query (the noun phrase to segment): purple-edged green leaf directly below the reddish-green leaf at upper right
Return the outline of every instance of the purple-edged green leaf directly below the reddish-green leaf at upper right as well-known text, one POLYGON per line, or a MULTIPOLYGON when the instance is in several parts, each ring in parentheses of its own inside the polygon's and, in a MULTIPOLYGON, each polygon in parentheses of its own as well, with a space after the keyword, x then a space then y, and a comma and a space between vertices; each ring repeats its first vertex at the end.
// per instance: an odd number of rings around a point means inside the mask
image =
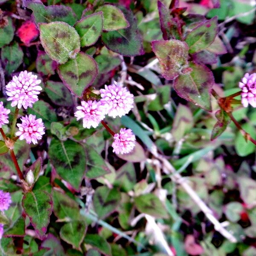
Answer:
POLYGON ((205 66, 189 63, 190 74, 180 75, 174 81, 177 94, 200 108, 212 110, 210 91, 214 84, 212 72, 205 66))

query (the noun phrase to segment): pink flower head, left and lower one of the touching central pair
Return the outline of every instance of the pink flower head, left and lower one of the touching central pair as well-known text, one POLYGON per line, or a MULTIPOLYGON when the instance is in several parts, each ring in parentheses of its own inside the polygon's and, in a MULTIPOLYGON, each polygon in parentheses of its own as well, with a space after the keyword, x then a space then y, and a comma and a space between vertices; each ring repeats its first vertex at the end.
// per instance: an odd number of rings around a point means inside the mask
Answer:
POLYGON ((75 112, 76 120, 83 119, 83 127, 96 128, 100 121, 105 118, 105 107, 98 101, 88 100, 81 101, 81 106, 76 107, 78 111, 75 112))

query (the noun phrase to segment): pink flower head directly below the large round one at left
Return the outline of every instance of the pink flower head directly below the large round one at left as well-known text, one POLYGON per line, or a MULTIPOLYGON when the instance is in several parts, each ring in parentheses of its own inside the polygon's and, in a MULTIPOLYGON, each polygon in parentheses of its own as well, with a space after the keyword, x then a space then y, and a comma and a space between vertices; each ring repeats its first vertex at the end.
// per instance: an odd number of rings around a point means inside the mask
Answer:
POLYGON ((19 131, 16 132, 16 136, 20 136, 20 140, 26 140, 26 143, 37 143, 37 140, 41 140, 44 132, 44 123, 42 119, 35 119, 34 115, 22 116, 20 118, 21 124, 17 124, 19 131))

